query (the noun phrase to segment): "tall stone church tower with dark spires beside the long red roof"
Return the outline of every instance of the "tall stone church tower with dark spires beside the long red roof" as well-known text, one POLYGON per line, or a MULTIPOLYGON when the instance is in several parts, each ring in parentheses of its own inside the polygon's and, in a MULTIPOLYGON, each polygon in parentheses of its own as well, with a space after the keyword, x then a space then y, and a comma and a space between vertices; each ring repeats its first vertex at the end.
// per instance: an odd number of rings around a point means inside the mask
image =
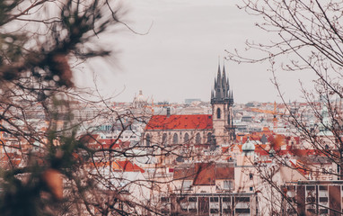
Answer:
POLYGON ((233 91, 230 89, 229 78, 218 64, 215 86, 211 92, 213 135, 217 145, 231 143, 235 139, 233 127, 233 91))

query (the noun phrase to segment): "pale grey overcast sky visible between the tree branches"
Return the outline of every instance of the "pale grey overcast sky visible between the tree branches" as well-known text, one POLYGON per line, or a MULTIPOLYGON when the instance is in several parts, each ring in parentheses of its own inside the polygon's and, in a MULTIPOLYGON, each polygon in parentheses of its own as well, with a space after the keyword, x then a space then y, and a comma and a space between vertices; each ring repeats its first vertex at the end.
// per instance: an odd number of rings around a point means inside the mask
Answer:
MULTIPOLYGON (((131 102, 139 90, 154 102, 182 103, 186 98, 210 100, 218 56, 224 49, 244 49, 245 40, 266 40, 272 35, 255 27, 256 17, 235 4, 239 0, 129 0, 124 21, 138 35, 120 28, 101 38, 117 52, 116 66, 92 64, 102 94, 131 102), (151 29, 149 30, 151 26, 151 29)), ((269 39, 268 39, 269 40, 269 39)), ((267 64, 225 61, 236 103, 279 101, 267 64)), ((286 98, 300 100, 298 78, 307 74, 278 74, 286 98)), ((80 85, 89 83, 76 76, 80 85)))

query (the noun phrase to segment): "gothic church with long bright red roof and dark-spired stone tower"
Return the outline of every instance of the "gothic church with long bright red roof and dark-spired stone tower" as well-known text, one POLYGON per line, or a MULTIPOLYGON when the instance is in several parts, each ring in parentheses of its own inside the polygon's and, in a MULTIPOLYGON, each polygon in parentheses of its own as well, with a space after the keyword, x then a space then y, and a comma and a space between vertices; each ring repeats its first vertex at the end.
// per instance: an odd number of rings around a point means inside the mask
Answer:
POLYGON ((233 126, 233 91, 225 67, 215 78, 211 92, 212 114, 153 115, 145 126, 143 145, 190 145, 214 147, 231 144, 235 139, 233 126))

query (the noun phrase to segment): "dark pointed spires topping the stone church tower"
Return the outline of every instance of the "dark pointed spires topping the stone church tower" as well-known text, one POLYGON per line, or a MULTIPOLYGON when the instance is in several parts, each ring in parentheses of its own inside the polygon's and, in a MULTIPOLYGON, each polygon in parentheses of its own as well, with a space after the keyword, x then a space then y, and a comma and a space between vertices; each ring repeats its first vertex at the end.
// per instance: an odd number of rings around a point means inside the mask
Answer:
POLYGON ((215 78, 215 86, 211 92, 211 103, 213 102, 233 103, 233 91, 230 90, 229 77, 226 77, 224 65, 223 65, 223 72, 221 72, 219 63, 218 63, 218 73, 215 78))

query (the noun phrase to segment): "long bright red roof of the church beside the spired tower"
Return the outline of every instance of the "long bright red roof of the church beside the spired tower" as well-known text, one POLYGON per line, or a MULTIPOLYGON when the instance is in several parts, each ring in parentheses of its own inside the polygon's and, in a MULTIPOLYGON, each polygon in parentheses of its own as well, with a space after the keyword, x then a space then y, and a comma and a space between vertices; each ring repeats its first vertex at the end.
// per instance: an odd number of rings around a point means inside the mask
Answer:
POLYGON ((154 115, 145 130, 213 129, 212 115, 154 115))

